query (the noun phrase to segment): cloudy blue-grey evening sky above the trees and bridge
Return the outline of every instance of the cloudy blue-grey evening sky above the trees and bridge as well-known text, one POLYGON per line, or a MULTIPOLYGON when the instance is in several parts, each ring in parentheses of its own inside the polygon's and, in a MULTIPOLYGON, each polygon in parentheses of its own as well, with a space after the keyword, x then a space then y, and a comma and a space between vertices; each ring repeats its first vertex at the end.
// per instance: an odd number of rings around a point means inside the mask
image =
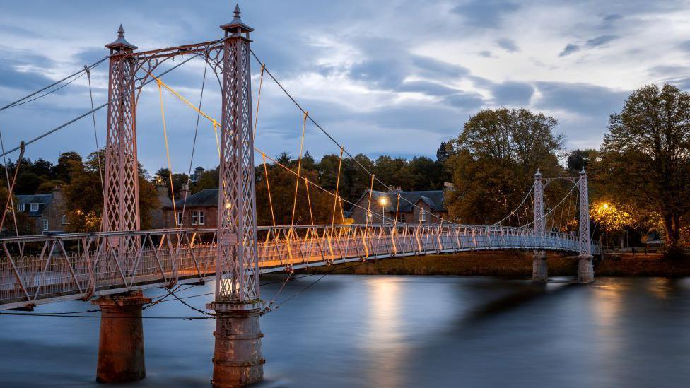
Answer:
MULTIPOLYGON (((92 64, 125 37, 140 50, 216 40, 230 1, 6 1, 0 13, 0 105, 92 64)), ((352 154, 435 158, 482 108, 527 107, 559 121, 566 147, 596 148, 609 114, 632 90, 673 83, 690 90, 688 1, 278 1, 239 2, 255 28, 252 49, 283 86, 352 154)), ((187 59, 182 57, 180 61, 187 59)), ((180 62, 160 66, 160 71, 180 62)), ((260 65, 252 61, 257 100, 260 65)), ((163 78, 197 103, 204 61, 163 78)), ((264 78, 256 145, 267 155, 300 149, 302 117, 264 78)), ((107 65, 92 74, 95 105, 107 101, 107 65)), ((218 81, 207 74, 202 110, 220 117, 218 81)), ((187 172, 197 114, 163 92, 170 163, 187 172)), ((256 109, 256 107, 254 107, 256 109)), ((90 110, 86 78, 0 112, 4 146, 90 110)), ((100 146, 106 112, 95 114, 100 146)), ((139 161, 167 166, 158 88, 137 107, 139 161)), ((313 125, 305 150, 339 148, 313 125)), ((79 120, 28 146, 29 158, 95 150, 93 120, 79 120)), ((16 158, 16 153, 11 158, 16 158)), ((257 161, 260 155, 257 155, 257 161)), ((218 164, 212 126, 199 124, 192 165, 218 164)))

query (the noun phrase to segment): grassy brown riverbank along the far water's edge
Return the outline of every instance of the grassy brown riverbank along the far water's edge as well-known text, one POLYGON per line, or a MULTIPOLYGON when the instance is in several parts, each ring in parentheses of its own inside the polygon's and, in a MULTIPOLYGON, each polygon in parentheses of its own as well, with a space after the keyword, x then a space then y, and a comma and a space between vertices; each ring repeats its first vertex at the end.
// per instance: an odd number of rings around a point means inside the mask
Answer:
MULTIPOLYGON (((549 253, 549 276, 575 276, 578 258, 549 253)), ((532 253, 519 251, 462 252, 381 259, 366 263, 319 266, 310 274, 532 276, 532 253)), ((690 261, 669 261, 660 254, 623 254, 595 260, 595 276, 690 276, 690 261)))

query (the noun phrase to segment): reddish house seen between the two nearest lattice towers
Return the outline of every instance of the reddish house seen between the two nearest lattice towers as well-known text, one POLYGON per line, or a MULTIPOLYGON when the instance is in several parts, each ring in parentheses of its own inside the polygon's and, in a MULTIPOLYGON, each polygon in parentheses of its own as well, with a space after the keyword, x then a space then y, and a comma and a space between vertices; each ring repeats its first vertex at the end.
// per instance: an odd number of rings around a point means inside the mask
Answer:
MULTIPOLYGON (((185 228, 216 228, 218 225, 218 189, 201 190, 187 196, 185 184, 179 193, 175 193, 175 204, 162 206, 163 223, 161 228, 172 229, 176 226, 185 228), (182 213, 184 211, 184 213, 182 213), (175 221, 177 220, 177 223, 175 221)), ((166 194, 167 196, 167 194, 166 194)))

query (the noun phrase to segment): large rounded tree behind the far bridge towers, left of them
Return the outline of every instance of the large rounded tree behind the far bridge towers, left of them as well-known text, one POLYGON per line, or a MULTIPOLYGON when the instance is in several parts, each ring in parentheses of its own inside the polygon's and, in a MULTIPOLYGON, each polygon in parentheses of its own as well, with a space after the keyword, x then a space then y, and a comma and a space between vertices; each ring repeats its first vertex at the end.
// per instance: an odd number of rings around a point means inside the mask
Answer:
POLYGON ((445 165, 455 190, 450 216, 463 223, 492 223, 515 209, 529 192, 534 172, 559 175, 563 135, 556 119, 529 110, 481 110, 452 140, 445 165))

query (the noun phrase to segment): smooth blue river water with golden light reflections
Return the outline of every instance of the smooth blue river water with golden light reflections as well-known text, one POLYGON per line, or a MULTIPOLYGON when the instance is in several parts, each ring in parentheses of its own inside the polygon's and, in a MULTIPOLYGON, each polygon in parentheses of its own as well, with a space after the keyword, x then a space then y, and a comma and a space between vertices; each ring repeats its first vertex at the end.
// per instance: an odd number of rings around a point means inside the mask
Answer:
MULTIPOLYGON (((316 278, 291 281, 279 299, 316 278)), ((280 286, 264 286, 264 298, 280 286)), ((540 287, 495 278, 329 275, 262 317, 262 387, 687 387, 689 297, 690 279, 540 287)), ((187 301, 203 307, 209 299, 187 301)), ((37 312, 89 308, 64 302, 37 312)), ((193 314, 178 302, 145 312, 193 314)), ((133 385, 209 387, 213 330, 211 319, 145 319, 148 375, 133 385)), ((0 316, 0 386, 99 386, 97 344, 98 319, 0 316)))

